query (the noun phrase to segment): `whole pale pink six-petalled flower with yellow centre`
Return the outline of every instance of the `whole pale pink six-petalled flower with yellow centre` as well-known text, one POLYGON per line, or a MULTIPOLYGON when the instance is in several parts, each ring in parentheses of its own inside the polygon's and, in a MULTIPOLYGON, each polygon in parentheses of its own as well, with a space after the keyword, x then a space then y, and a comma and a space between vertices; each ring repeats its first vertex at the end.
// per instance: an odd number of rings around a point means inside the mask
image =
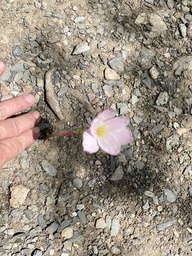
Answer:
POLYGON ((92 120, 90 129, 83 133, 84 151, 95 153, 101 148, 108 154, 117 156, 121 146, 133 141, 132 132, 127 128, 129 119, 115 117, 112 109, 107 109, 92 120))

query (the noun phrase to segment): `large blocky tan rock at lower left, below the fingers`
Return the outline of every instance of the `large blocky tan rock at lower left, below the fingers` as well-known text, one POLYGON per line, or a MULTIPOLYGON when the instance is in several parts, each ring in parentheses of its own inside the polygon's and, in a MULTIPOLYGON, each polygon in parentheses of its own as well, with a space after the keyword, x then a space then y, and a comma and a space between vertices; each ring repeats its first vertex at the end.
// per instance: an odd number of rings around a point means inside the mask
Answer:
POLYGON ((25 203, 26 197, 30 190, 28 188, 25 188, 24 186, 18 185, 18 186, 11 186, 10 191, 11 191, 10 205, 13 208, 18 208, 19 206, 22 206, 25 203))

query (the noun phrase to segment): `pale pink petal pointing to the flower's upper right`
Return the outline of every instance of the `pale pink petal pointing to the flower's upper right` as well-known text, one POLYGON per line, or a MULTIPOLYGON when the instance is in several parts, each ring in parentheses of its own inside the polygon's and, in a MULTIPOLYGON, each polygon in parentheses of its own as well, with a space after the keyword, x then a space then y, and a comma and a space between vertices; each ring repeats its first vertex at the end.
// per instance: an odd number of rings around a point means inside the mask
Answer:
POLYGON ((126 117, 115 117, 105 121, 105 125, 112 133, 122 131, 122 129, 126 128, 127 124, 129 124, 129 119, 126 117))

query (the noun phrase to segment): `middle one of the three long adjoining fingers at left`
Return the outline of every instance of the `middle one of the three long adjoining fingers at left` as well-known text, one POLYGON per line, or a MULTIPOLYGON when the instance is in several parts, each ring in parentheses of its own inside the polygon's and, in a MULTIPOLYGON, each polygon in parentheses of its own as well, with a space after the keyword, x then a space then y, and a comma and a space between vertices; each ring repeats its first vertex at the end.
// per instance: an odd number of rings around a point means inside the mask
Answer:
POLYGON ((41 119, 38 111, 23 114, 21 117, 6 119, 0 122, 0 140, 16 137, 33 128, 41 119))

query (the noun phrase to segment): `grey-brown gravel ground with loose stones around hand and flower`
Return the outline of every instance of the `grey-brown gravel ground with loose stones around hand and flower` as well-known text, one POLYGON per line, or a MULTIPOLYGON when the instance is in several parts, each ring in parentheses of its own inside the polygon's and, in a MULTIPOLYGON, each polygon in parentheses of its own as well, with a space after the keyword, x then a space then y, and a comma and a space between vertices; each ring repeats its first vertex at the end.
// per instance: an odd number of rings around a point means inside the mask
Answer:
POLYGON ((41 128, 130 117, 122 154, 40 139, 0 174, 0 255, 192 255, 191 0, 1 0, 1 100, 41 128))

